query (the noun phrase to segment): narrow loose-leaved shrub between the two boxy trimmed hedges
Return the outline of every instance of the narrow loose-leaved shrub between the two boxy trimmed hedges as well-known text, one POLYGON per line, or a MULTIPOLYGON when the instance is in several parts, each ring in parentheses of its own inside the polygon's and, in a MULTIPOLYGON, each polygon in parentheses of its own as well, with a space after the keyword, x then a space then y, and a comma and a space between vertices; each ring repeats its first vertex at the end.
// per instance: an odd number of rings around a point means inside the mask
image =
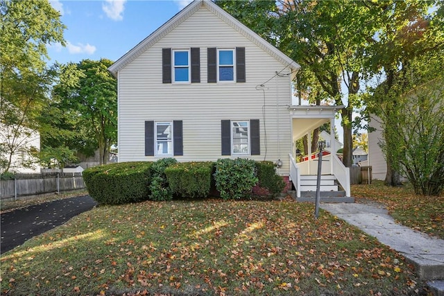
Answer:
POLYGON ((178 161, 172 157, 162 158, 157 160, 151 166, 151 184, 149 189, 151 194, 149 197, 152 200, 172 200, 173 191, 169 188, 165 169, 178 161))

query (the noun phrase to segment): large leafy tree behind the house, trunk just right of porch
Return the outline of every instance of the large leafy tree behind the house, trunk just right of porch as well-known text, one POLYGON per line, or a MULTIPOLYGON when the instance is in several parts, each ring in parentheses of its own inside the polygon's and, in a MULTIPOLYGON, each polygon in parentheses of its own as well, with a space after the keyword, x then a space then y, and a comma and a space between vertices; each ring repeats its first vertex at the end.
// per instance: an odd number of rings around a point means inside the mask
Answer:
POLYGON ((352 165, 352 112, 361 105, 359 80, 375 9, 358 1, 216 1, 253 31, 308 69, 341 110, 343 162, 352 165), (260 8, 261 13, 250 10, 260 8), (241 10, 242 9, 242 10, 241 10), (253 19, 252 19, 253 18, 253 19), (262 21, 263 20, 263 21, 262 21), (268 32, 268 33, 264 33, 268 32), (345 83, 343 94, 342 82, 345 83))

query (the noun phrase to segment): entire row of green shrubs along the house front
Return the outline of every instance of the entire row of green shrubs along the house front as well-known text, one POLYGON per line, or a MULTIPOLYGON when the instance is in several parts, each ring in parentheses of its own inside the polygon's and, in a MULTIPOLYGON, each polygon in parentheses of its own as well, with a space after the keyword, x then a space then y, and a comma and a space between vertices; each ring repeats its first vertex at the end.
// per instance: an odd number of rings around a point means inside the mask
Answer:
MULTIPOLYGON (((142 200, 205 198, 214 186, 224 200, 249 197, 253 186, 278 195, 285 183, 273 162, 252 159, 219 159, 217 162, 122 162, 83 171, 89 195, 99 204, 124 204, 142 200)), ((214 193, 214 192, 213 192, 214 193)))

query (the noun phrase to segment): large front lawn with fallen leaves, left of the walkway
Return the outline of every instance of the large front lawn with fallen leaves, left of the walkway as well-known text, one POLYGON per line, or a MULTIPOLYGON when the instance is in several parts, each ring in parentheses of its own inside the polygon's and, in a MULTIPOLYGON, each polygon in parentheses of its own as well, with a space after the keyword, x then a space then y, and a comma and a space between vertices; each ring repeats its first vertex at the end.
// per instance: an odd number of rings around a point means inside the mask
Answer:
POLYGON ((1 256, 6 295, 416 295, 402 256, 314 205, 96 207, 1 256))

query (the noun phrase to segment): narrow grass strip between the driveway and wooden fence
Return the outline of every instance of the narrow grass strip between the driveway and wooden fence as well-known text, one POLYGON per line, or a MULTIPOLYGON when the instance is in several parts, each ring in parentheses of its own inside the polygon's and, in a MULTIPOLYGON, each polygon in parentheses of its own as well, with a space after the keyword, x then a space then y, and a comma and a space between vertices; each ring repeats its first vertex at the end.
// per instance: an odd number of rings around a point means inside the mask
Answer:
POLYGON ((42 202, 50 202, 52 200, 60 200, 63 198, 73 198, 74 196, 80 196, 85 194, 88 194, 88 191, 86 189, 80 189, 74 191, 67 191, 60 194, 44 195, 37 198, 26 198, 22 200, 10 200, 10 201, 0 200, 0 213, 24 207, 29 207, 34 204, 41 204, 42 202))

